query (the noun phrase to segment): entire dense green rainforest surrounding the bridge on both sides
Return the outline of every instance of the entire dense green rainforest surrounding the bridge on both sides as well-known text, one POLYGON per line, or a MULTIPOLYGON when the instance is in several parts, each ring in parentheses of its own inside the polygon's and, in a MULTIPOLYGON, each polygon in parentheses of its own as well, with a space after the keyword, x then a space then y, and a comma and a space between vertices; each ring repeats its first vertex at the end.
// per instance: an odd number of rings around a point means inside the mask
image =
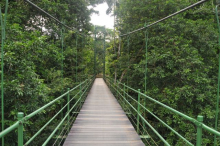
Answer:
MULTIPOLYGON (((74 29, 69 30, 58 24, 25 0, 9 1, 4 47, 5 127, 17 120, 18 112, 29 114, 67 91, 67 88, 73 88, 93 75, 95 30, 89 21, 91 14, 97 12, 88 6, 94 7, 103 2, 109 6, 107 14, 114 10, 116 29, 115 34, 110 29, 105 33, 107 76, 140 89, 190 117, 196 119, 197 115, 203 115, 204 123, 214 127, 219 65, 215 2, 208 1, 126 36, 121 35, 151 24, 198 0, 32 2, 74 29)), ((0 1, 0 5, 4 17, 5 1, 0 1)), ((97 40, 100 37, 100 41, 96 42, 96 73, 101 73, 104 63, 103 31, 98 31, 100 35, 97 34, 97 40)), ((129 94, 137 99, 133 91, 129 90, 129 94)), ((192 123, 141 98, 141 103, 145 101, 150 111, 195 143, 196 127, 192 123)), ((24 141, 55 115, 61 106, 62 101, 51 106, 49 114, 43 111, 26 122, 24 141)), ((152 115, 147 112, 143 115, 171 145, 186 145, 152 115)), ((133 117, 130 119, 136 120, 133 117)), ((30 145, 41 145, 58 120, 60 118, 54 120, 30 145)), ((155 142, 148 139, 146 144, 162 145, 154 132, 149 129, 147 133, 155 142)), ((15 137, 17 131, 5 137, 5 145, 17 145, 15 137)), ((213 145, 213 134, 204 132, 203 137, 203 145, 213 145)), ((52 139, 48 145, 53 145, 55 140, 52 139)))

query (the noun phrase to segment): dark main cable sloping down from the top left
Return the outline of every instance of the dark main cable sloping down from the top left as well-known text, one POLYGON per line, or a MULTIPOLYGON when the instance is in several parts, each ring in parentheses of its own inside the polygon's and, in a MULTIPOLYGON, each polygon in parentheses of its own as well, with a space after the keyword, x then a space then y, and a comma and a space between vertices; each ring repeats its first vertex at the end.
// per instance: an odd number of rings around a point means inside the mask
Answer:
POLYGON ((76 31, 76 33, 82 35, 82 36, 86 36, 85 34, 80 33, 76 28, 74 27, 69 27, 66 24, 64 24, 63 22, 61 22, 60 20, 58 20, 57 18, 55 18, 54 16, 52 16, 51 14, 49 14, 48 12, 46 12, 45 10, 43 10, 42 8, 38 7, 36 4, 34 4, 33 2, 29 1, 29 0, 25 0, 27 3, 31 4, 33 7, 37 8, 39 11, 43 12, 44 14, 46 14, 47 16, 49 16, 50 18, 52 18, 53 20, 55 20, 56 22, 58 22, 59 24, 65 26, 66 28, 70 29, 70 30, 74 30, 76 31))

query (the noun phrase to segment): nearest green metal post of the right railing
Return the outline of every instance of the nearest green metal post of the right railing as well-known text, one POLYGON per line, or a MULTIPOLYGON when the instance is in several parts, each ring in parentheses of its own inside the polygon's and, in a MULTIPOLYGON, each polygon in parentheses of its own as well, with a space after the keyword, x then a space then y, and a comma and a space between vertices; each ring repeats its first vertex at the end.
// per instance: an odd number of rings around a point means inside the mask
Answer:
POLYGON ((203 116, 198 116, 197 121, 199 122, 197 126, 197 136, 196 136, 196 146, 202 145, 202 122, 203 116))

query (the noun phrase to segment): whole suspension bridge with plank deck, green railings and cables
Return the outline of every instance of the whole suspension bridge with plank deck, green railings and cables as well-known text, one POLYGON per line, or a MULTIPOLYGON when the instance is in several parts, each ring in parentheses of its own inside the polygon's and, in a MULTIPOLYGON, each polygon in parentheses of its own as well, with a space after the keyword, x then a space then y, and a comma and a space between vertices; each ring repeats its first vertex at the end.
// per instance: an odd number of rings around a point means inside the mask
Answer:
MULTIPOLYGON (((197 3, 186 7, 176 13, 173 13, 163 19, 160 19, 156 22, 153 22, 149 25, 145 25, 143 28, 131 31, 127 34, 122 34, 123 36, 128 36, 138 31, 146 30, 147 28, 156 25, 166 19, 169 19, 177 14, 180 14, 188 9, 191 9, 195 6, 198 6, 207 0, 201 0, 197 3)), ((70 30, 75 30, 34 3, 26 0, 30 5, 37 8, 39 11, 46 14, 51 19, 60 23, 63 27, 66 27, 70 30)), ((6 7, 8 1, 6 2, 6 7)), ((1 12, 1 10, 0 10, 1 12)), ((6 14, 5 20, 2 22, 2 54, 4 48, 5 40, 5 26, 6 26, 6 14)), ((2 14, 1 14, 2 15, 2 14)), ((216 6, 216 16, 218 20, 218 5, 216 6)), ((2 18, 1 18, 2 19, 2 18)), ((220 32, 220 27, 219 27, 220 32)), ((77 32, 78 35, 83 35, 77 32)), ((94 34, 96 42, 96 32, 94 34)), ((146 52, 147 52, 147 33, 146 33, 146 52)), ((103 38, 105 43, 105 37, 103 38)), ((76 42, 77 45, 77 42, 76 42)), ((105 45, 104 45, 105 49, 105 45)), ((3 58, 3 57, 2 57, 3 58)), ((12 131, 17 130, 17 144, 18 146, 27 146, 33 145, 36 137, 39 137, 43 130, 48 127, 55 118, 59 117, 63 111, 66 113, 62 116, 60 121, 58 121, 57 126, 53 129, 52 133, 48 135, 48 138, 42 143, 42 146, 49 145, 49 142, 53 139, 55 141, 54 145, 64 145, 64 146, 144 146, 144 145, 157 145, 151 135, 147 132, 147 129, 150 129, 154 134, 159 138, 160 141, 166 146, 171 144, 166 140, 166 138, 158 132, 158 129, 155 129, 146 118, 146 113, 151 114, 155 119, 157 119, 164 127, 172 131, 179 139, 181 139, 185 145, 196 145, 201 146, 203 140, 203 131, 213 134, 214 143, 217 144, 217 136, 220 136, 220 132, 215 129, 205 125, 203 123, 203 116, 198 115, 197 119, 194 119, 184 113, 181 113, 175 110, 168 105, 163 104, 155 100, 152 97, 149 97, 142 93, 139 89, 133 89, 132 87, 121 83, 118 80, 112 79, 105 74, 105 59, 103 61, 103 76, 102 78, 97 78, 96 72, 96 47, 94 47, 94 74, 89 76, 86 80, 80 81, 80 83, 74 86, 72 89, 68 89, 67 92, 60 95, 56 99, 50 101, 46 105, 37 109, 36 111, 24 115, 21 111, 17 114, 18 120, 14 122, 10 127, 4 127, 4 110, 2 109, 2 131, 0 133, 0 138, 2 139, 2 146, 4 146, 4 138, 11 133, 12 131), (132 95, 130 94, 132 91, 132 95), (134 97, 135 96, 135 97, 134 97), (25 123, 31 118, 35 117, 37 114, 45 111, 50 106, 56 104, 58 101, 61 101, 65 98, 66 103, 61 107, 61 109, 40 129, 34 133, 29 140, 24 141, 24 127, 25 123), (161 120, 156 114, 150 111, 146 103, 141 103, 143 101, 151 101, 155 105, 163 107, 166 110, 169 110, 171 114, 178 115, 189 123, 193 124, 196 127, 196 137, 195 141, 190 141, 184 138, 178 131, 173 129, 169 124, 161 120), (63 129, 61 127, 64 127, 63 129), (60 130, 61 129, 61 130, 60 130), (63 133, 59 135, 57 133, 63 133), (56 140, 54 140, 56 139, 56 140), (61 139, 61 140, 60 140, 61 139), (56 143, 58 142, 58 144, 56 143)), ((146 59, 147 62, 147 59, 146 59)), ((2 79, 3 82, 3 59, 2 59, 2 79)), ((146 63, 147 64, 147 63, 146 63)), ((147 71, 146 71, 147 72, 147 71)), ((145 77, 146 82, 146 77, 145 77)), ((145 83, 146 90, 146 83, 145 83)), ((219 90, 218 90, 219 92, 219 90)), ((4 98, 3 98, 3 84, 2 84, 2 108, 4 107, 4 98)), ((219 104, 219 97, 217 99, 217 109, 219 104)), ((217 116, 216 116, 217 117, 217 116)), ((216 125, 218 125, 216 120, 216 125)), ((15 140, 15 139, 14 139, 15 140)))

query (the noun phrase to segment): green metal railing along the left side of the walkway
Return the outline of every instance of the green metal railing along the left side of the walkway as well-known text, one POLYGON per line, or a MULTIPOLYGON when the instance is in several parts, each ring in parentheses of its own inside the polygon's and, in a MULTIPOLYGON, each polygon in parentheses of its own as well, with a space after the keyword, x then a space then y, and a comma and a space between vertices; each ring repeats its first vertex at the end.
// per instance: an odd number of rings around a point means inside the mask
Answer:
POLYGON ((64 115, 64 117, 61 119, 61 121, 59 122, 59 124, 56 126, 56 128, 53 130, 53 132, 49 135, 49 137, 46 139, 46 141, 42 144, 42 146, 47 145, 47 143, 51 140, 51 138, 55 135, 55 133, 58 131, 58 129, 63 125, 64 121, 66 119, 70 119, 70 113, 73 112, 73 109, 75 109, 76 106, 80 105, 82 102, 85 101, 86 95, 88 93, 88 91, 91 88, 91 85, 94 81, 95 77, 91 77, 89 79, 86 79, 85 81, 81 82, 79 85, 75 86, 72 89, 68 89, 67 92, 65 92, 64 94, 62 94, 61 96, 57 97, 56 99, 52 100, 51 102, 47 103, 46 105, 44 105, 43 107, 37 109, 36 111, 30 113, 29 115, 26 115, 24 117, 24 113, 19 112, 17 115, 18 121, 16 121, 13 125, 11 125, 10 127, 8 127, 7 129, 5 129, 4 131, 2 131, 0 133, 0 138, 6 136, 7 134, 9 134, 10 132, 12 132, 13 130, 18 130, 18 146, 27 146, 29 145, 31 142, 33 142, 33 140, 39 136, 39 134, 59 115, 61 114, 61 112, 64 111, 64 109, 66 110, 66 114, 64 115), (70 93, 71 92, 75 92, 73 97, 70 97, 70 93), (61 100, 66 97, 66 104, 46 123, 44 124, 44 126, 42 126, 38 132, 36 132, 25 144, 24 144, 24 139, 23 139, 23 132, 24 132, 24 124, 25 122, 27 122, 30 118, 34 117, 35 115, 41 113, 41 112, 45 112, 45 109, 54 105, 57 102, 61 102, 61 100), (74 100, 76 100, 75 103, 73 103, 73 106, 70 107, 71 102, 73 102, 74 100))

